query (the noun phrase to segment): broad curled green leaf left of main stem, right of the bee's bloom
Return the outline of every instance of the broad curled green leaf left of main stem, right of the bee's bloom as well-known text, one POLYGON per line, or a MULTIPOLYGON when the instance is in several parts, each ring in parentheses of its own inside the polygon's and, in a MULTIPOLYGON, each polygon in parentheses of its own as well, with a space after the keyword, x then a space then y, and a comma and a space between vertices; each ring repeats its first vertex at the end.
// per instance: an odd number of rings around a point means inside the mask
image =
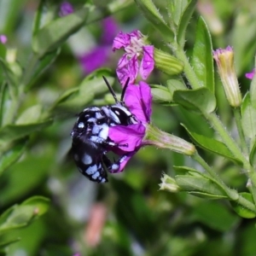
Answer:
POLYGON ((216 108, 216 99, 205 87, 195 90, 176 90, 173 101, 195 113, 212 113, 216 108))

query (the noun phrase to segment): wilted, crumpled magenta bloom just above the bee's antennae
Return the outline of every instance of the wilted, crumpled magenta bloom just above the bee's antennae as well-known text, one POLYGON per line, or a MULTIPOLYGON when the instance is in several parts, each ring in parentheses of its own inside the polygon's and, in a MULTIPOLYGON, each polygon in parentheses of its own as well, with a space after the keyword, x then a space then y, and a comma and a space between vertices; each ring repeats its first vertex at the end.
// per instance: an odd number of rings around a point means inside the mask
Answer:
POLYGON ((119 82, 123 86, 128 78, 134 84, 138 74, 147 79, 154 69, 154 46, 146 45, 146 39, 138 30, 131 33, 119 32, 113 39, 113 51, 125 49, 116 69, 119 82))

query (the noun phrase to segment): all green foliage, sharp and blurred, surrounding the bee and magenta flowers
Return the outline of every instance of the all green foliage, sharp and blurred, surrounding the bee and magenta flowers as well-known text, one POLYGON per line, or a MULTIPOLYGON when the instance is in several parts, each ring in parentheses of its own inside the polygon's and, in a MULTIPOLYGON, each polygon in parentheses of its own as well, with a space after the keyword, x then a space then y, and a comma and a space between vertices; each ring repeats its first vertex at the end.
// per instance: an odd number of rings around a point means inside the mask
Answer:
POLYGON ((61 1, 0 2, 0 255, 254 255, 256 79, 244 73, 256 4, 70 3, 74 12, 60 17, 61 1), (161 147, 153 129, 160 149, 140 149, 125 172, 97 184, 77 171, 69 133, 76 113, 113 103, 102 75, 120 91, 111 45, 101 68, 82 65, 107 16, 160 49, 148 78, 152 123, 196 150, 161 147), (236 108, 213 65, 212 49, 228 45, 243 96, 236 108))

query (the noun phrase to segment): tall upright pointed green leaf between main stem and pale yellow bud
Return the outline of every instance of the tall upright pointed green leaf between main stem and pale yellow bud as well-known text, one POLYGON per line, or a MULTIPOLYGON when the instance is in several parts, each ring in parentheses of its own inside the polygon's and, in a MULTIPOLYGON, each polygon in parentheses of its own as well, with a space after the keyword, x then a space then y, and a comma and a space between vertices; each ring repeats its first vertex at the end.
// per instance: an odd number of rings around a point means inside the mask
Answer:
POLYGON ((201 86, 207 87, 214 94, 212 38, 202 17, 198 20, 196 26, 191 65, 201 86))

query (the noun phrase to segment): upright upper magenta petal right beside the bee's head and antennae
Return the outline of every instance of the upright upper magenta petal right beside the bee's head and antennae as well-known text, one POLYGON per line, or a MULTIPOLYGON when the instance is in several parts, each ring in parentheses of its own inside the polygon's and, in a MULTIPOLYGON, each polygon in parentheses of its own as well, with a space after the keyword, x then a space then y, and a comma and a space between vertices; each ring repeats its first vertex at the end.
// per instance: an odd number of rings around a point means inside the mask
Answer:
POLYGON ((149 85, 143 81, 139 85, 129 84, 125 92, 125 105, 141 122, 149 123, 152 94, 149 85))

